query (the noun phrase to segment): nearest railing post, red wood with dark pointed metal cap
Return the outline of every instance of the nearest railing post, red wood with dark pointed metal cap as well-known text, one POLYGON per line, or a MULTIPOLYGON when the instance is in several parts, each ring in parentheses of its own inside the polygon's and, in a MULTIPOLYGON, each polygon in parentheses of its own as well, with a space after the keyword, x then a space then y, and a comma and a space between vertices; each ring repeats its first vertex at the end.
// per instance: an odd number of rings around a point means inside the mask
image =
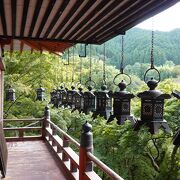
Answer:
POLYGON ((87 152, 93 152, 92 126, 86 121, 82 126, 79 151, 79 180, 85 180, 85 172, 93 171, 93 163, 87 157, 87 152))

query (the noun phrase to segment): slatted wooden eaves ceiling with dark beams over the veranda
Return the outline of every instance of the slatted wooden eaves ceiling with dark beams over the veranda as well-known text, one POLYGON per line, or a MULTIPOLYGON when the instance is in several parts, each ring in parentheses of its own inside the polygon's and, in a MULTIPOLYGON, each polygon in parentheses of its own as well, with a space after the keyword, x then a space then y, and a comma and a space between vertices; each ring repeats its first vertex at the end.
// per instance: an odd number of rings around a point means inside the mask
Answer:
POLYGON ((0 0, 0 38, 23 40, 20 44, 52 52, 74 43, 102 44, 177 2, 0 0))

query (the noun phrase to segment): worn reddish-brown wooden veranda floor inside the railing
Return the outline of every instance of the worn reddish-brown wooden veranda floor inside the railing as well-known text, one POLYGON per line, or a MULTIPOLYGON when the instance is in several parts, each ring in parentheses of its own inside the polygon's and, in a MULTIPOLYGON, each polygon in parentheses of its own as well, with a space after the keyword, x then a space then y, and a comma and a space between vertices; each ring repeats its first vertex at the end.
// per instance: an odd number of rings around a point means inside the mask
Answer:
POLYGON ((8 142, 6 180, 66 180, 44 141, 8 142))

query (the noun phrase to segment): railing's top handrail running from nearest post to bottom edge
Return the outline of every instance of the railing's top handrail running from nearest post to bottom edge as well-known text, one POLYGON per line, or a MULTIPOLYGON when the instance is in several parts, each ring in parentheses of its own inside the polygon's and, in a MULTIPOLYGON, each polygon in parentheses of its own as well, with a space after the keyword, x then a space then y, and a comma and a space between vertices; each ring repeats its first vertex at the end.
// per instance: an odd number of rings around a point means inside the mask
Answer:
POLYGON ((111 168, 109 168, 106 164, 100 161, 96 156, 94 156, 91 152, 87 152, 87 157, 89 160, 93 161, 103 172, 105 172, 108 176, 116 180, 123 180, 117 173, 115 173, 111 168))

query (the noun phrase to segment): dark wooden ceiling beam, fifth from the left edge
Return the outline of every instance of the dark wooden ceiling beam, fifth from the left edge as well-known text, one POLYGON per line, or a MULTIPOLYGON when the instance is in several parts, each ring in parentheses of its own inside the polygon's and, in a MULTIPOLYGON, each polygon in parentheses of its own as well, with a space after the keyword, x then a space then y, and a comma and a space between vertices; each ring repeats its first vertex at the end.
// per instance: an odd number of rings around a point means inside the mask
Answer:
POLYGON ((56 0, 49 1, 49 4, 48 4, 47 9, 46 9, 46 12, 45 12, 45 14, 43 16, 43 19, 42 19, 41 24, 39 26, 38 32, 36 34, 36 38, 38 38, 40 36, 40 34, 41 34, 42 30, 43 30, 43 27, 44 27, 44 25, 47 22, 49 14, 51 13, 51 11, 52 11, 52 9, 54 7, 55 2, 56 2, 56 0))

